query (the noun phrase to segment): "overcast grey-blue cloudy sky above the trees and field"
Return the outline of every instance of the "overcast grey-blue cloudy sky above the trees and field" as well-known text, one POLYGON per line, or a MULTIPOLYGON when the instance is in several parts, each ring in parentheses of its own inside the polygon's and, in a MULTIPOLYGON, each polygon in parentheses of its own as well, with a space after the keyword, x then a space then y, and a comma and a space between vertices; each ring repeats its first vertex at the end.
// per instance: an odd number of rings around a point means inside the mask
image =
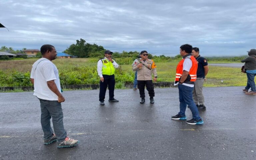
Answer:
POLYGON ((182 44, 202 56, 256 48, 255 0, 0 0, 0 47, 58 52, 80 38, 113 52, 175 56, 182 44))

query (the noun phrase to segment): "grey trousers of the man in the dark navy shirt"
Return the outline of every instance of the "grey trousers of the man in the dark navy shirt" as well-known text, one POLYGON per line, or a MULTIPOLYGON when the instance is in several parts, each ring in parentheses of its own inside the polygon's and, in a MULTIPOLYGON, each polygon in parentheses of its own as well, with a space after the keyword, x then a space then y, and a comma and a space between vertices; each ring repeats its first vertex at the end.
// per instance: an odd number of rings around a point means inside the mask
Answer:
POLYGON ((204 105, 204 94, 203 94, 204 78, 197 78, 195 81, 195 87, 193 90, 193 100, 196 105, 204 105))

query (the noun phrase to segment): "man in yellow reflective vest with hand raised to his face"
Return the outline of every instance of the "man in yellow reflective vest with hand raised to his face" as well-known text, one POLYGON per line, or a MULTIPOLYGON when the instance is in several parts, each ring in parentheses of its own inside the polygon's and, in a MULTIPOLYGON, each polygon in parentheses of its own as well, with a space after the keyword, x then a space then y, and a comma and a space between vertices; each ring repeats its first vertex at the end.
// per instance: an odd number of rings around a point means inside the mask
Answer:
POLYGON ((100 76, 100 105, 105 105, 104 99, 107 91, 109 90, 109 102, 119 102, 114 98, 115 89, 115 68, 118 68, 118 64, 111 58, 113 52, 106 50, 104 52, 105 57, 99 59, 97 63, 97 72, 100 76))

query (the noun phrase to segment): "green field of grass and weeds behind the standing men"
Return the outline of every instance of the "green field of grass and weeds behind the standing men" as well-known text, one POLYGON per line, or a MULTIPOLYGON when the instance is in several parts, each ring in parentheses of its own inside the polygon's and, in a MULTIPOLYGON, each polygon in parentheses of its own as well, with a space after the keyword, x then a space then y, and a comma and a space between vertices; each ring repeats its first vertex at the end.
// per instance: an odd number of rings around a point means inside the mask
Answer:
MULTIPOLYGON (((32 85, 29 82, 29 73, 36 60, 36 58, 33 58, 0 61, 0 86, 32 85)), ((97 58, 65 58, 56 59, 52 62, 59 70, 62 85, 69 85, 98 84, 97 61, 97 58)), ((132 59, 116 59, 116 62, 120 64, 120 68, 116 71, 115 77, 117 86, 120 88, 124 87, 123 83, 133 82, 134 72, 132 71, 132 66, 131 64, 126 64, 130 63, 130 61, 131 63, 133 62, 132 59)), ((178 62, 179 60, 177 59, 168 60, 168 62, 158 60, 156 62, 158 82, 174 82, 178 62)), ((218 61, 215 62, 217 63, 218 61)), ((209 73, 206 79, 204 86, 209 87, 245 86, 247 82, 246 74, 241 73, 239 68, 217 66, 209 66, 209 73)))

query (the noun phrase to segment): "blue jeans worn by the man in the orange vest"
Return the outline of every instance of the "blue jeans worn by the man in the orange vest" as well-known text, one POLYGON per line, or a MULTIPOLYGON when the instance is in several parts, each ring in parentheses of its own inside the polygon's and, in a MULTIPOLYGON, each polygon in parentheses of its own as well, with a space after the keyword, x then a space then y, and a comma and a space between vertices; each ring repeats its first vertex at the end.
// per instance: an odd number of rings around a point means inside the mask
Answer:
POLYGON ((195 102, 193 101, 192 91, 194 87, 185 86, 183 84, 178 85, 179 88, 179 99, 180 99, 180 112, 181 116, 185 116, 187 105, 192 112, 192 117, 196 120, 200 120, 198 109, 195 102))

